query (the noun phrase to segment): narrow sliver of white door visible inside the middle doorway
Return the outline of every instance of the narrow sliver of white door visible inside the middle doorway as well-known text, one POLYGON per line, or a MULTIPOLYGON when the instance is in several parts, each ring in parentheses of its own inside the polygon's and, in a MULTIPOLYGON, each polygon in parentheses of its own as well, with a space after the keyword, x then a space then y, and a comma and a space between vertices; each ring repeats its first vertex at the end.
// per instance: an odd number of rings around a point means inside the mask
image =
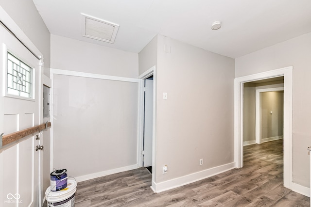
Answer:
POLYGON ((153 108, 153 80, 145 80, 144 107, 144 167, 152 166, 152 108, 153 108))

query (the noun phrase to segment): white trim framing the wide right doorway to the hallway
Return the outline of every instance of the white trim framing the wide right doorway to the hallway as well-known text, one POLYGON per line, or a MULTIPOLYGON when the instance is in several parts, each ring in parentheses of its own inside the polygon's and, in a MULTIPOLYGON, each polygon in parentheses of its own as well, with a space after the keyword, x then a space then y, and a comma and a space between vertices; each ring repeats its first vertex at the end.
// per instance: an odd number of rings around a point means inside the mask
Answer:
POLYGON ((234 161, 243 167, 243 84, 284 76, 284 187, 293 189, 293 66, 234 79, 234 161))

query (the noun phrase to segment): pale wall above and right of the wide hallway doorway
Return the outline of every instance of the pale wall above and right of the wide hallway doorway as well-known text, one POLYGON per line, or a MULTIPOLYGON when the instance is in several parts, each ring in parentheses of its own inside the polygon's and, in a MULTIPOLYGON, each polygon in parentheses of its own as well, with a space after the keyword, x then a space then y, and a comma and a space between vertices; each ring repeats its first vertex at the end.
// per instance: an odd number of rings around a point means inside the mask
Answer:
POLYGON ((235 59, 235 77, 286 66, 293 70, 293 181, 310 186, 311 145, 311 33, 290 39, 235 59))

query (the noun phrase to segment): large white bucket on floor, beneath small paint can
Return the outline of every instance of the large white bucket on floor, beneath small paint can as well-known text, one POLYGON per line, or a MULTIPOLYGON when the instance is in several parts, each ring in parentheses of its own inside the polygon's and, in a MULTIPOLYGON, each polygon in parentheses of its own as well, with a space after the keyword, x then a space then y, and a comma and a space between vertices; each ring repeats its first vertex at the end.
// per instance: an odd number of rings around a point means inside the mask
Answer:
POLYGON ((77 182, 69 179, 67 187, 61 191, 51 191, 51 186, 45 191, 48 207, 74 207, 77 182))

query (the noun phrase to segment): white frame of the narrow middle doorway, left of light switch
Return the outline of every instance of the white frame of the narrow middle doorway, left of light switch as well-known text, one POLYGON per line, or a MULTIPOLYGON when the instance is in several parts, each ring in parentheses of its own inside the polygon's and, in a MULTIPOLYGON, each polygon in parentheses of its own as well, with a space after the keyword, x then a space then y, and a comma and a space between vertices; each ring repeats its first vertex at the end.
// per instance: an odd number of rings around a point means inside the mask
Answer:
POLYGON ((143 149, 143 130, 144 130, 144 80, 150 76, 154 76, 153 81, 153 126, 152 126, 152 179, 154 180, 155 175, 155 139, 156 139, 156 67, 152 66, 146 72, 141 74, 138 85, 138 151, 137 151, 137 164, 138 167, 143 167, 142 165, 142 149, 143 149))

